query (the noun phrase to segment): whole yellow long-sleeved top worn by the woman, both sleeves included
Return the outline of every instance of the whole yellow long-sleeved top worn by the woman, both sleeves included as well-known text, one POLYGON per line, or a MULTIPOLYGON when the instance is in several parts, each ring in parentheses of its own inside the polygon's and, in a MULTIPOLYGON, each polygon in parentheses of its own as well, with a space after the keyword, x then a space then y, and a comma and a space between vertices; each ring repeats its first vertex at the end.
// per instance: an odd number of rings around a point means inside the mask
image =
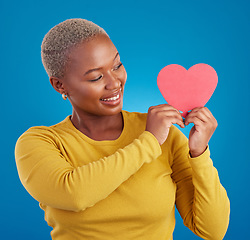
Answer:
POLYGON ((195 234, 222 239, 229 200, 209 149, 191 158, 175 126, 160 146, 145 131, 147 114, 122 114, 124 129, 112 141, 88 138, 70 116, 18 139, 21 182, 45 211, 52 239, 170 240, 175 204, 195 234))

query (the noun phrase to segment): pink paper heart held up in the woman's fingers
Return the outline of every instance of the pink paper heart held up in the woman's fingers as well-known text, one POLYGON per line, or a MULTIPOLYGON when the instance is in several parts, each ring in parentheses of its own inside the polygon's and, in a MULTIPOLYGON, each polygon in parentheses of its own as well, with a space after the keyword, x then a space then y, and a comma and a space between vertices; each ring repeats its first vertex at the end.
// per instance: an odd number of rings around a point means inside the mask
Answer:
POLYGON ((157 77, 157 85, 164 99, 182 111, 184 118, 193 108, 205 106, 217 83, 216 71, 205 63, 196 64, 188 70, 178 64, 170 64, 157 77))

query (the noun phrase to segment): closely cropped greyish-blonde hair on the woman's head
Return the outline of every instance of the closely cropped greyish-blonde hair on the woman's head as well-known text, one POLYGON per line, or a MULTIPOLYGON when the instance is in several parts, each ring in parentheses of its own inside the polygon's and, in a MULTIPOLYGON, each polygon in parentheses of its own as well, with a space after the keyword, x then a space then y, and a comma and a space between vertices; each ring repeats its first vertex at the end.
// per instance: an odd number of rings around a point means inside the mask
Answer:
POLYGON ((62 78, 70 51, 98 34, 107 35, 95 23, 81 18, 68 19, 50 29, 41 46, 43 66, 49 77, 62 78))

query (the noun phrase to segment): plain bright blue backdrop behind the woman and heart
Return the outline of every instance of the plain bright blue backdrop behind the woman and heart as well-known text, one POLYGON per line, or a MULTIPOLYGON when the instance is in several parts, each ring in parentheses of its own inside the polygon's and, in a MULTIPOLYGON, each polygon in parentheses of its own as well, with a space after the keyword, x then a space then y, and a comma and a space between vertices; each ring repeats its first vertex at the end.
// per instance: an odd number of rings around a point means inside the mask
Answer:
MULTIPOLYGON (((40 45, 54 25, 79 17, 103 27, 120 52, 128 73, 125 110, 147 112, 165 103, 156 78, 168 64, 215 68, 219 83, 206 106, 219 123, 210 148, 231 200, 225 239, 250 239, 249 7, 245 0, 1 1, 1 237, 50 239, 43 211, 19 181, 14 146, 29 127, 71 114, 70 104, 50 86, 40 45)), ((174 237, 200 239, 178 214, 174 237)))

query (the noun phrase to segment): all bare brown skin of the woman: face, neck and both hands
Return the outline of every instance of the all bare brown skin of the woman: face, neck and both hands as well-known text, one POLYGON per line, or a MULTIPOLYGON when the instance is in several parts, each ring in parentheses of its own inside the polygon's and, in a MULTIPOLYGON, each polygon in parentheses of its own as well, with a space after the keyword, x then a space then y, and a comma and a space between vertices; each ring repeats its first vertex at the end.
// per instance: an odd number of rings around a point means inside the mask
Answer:
MULTIPOLYGON (((123 130, 121 110, 126 79, 117 49, 108 36, 100 34, 74 48, 64 77, 50 77, 50 82, 60 94, 67 94, 73 107, 74 126, 91 139, 101 141, 117 139, 123 130), (114 104, 101 100, 114 97, 118 92, 120 99, 114 104)), ((193 109, 183 122, 181 113, 174 107, 152 106, 145 130, 162 145, 172 124, 184 128, 190 123, 194 124, 189 134, 190 154, 197 157, 206 150, 217 127, 216 119, 206 107, 193 109)))

